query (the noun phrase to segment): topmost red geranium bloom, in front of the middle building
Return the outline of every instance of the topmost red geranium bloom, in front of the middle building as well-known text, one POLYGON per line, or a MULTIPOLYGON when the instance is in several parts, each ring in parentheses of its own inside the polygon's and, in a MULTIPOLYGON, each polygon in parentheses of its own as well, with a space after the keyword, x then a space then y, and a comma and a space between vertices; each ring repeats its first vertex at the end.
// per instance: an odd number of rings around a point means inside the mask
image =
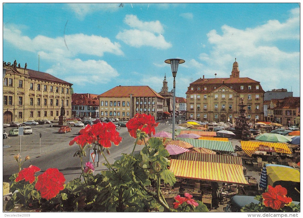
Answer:
POLYGON ((155 127, 158 126, 159 123, 155 122, 155 117, 151 116, 151 114, 136 114, 132 119, 130 119, 126 123, 126 127, 128 129, 129 135, 134 138, 137 138, 136 132, 138 129, 142 129, 142 132, 145 132, 149 136, 151 133, 155 134, 155 127))

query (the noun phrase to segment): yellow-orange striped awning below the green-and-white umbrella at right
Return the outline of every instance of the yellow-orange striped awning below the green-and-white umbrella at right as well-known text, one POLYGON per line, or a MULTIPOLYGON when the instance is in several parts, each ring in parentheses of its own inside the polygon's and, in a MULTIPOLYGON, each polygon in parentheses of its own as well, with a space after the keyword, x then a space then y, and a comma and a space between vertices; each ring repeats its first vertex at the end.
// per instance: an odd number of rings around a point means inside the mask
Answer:
POLYGON ((260 145, 274 148, 277 153, 291 154, 286 143, 241 141, 242 150, 250 157, 259 150, 260 145))

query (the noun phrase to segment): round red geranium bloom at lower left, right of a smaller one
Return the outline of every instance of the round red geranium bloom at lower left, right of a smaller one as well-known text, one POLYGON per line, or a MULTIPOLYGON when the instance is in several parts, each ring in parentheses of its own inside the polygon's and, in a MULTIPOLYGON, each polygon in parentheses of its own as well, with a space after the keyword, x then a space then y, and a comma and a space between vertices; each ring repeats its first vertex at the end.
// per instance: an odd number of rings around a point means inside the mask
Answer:
POLYGON ((38 176, 35 188, 40 191, 42 198, 49 200, 56 197, 64 189, 64 182, 63 173, 59 172, 57 168, 48 168, 38 176))

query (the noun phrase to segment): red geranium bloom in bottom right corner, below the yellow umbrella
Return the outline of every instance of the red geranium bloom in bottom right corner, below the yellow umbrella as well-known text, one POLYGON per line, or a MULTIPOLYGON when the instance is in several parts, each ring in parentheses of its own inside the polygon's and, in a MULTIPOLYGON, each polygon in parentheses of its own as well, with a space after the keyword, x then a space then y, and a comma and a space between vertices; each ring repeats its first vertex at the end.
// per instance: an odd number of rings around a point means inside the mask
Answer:
POLYGON ((286 197, 287 189, 281 185, 272 187, 268 185, 268 191, 262 194, 265 207, 271 207, 274 210, 279 210, 285 205, 292 202, 290 197, 286 197))

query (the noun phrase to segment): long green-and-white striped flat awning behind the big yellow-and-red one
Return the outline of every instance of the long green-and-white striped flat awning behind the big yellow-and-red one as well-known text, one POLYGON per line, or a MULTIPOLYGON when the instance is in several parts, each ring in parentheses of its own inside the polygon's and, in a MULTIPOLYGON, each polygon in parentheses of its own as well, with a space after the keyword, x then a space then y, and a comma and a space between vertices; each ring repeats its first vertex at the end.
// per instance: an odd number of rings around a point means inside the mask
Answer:
POLYGON ((178 140, 188 142, 196 148, 207 148, 213 151, 234 151, 231 142, 200 140, 194 138, 178 138, 178 140))

